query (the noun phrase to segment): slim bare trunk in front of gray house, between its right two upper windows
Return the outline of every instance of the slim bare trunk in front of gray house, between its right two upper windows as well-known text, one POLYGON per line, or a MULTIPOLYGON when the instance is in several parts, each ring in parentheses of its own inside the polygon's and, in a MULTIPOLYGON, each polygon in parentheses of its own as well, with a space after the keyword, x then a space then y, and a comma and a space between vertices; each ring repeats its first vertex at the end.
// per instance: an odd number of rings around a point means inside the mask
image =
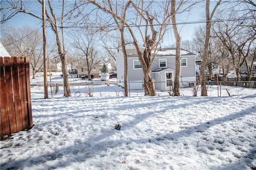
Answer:
POLYGON ((172 12, 172 28, 176 39, 176 55, 175 55, 175 76, 173 86, 173 96, 180 96, 180 48, 181 48, 181 37, 178 32, 176 25, 176 13, 175 13, 176 0, 172 0, 171 12, 172 12))

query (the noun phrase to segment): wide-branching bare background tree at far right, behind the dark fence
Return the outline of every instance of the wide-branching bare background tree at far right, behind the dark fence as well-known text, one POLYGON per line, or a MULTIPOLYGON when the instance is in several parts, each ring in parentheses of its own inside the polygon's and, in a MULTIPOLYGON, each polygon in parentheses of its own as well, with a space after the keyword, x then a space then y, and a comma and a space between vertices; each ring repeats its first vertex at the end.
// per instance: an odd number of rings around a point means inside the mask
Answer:
MULTIPOLYGON (((233 10, 230 13, 230 18, 236 14, 233 10)), ((228 15, 228 12, 226 12, 228 15)), ((234 70, 235 77, 239 77, 240 67, 246 65, 248 70, 248 56, 250 56, 253 42, 256 40, 256 30, 254 27, 246 26, 252 22, 252 20, 242 20, 242 22, 236 21, 223 21, 214 24, 215 35, 222 42, 222 45, 229 51, 231 56, 231 64, 234 70)), ((253 61, 252 61, 253 62, 253 61)))

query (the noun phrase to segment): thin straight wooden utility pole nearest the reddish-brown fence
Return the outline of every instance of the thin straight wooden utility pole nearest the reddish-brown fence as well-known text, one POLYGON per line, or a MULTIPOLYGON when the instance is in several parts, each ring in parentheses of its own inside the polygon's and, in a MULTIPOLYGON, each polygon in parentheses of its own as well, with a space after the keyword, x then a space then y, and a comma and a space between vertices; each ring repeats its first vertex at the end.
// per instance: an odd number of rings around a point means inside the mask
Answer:
POLYGON ((43 0, 43 6, 42 6, 42 18, 43 18, 43 45, 44 45, 44 99, 48 99, 45 0, 43 0))

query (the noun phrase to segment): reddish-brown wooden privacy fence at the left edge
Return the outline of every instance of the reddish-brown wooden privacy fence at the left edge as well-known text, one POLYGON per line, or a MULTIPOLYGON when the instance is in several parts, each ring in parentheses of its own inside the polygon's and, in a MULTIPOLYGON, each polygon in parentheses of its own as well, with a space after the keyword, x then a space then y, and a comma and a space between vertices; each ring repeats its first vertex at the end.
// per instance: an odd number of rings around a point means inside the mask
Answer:
POLYGON ((29 59, 0 57, 1 136, 33 126, 29 59))

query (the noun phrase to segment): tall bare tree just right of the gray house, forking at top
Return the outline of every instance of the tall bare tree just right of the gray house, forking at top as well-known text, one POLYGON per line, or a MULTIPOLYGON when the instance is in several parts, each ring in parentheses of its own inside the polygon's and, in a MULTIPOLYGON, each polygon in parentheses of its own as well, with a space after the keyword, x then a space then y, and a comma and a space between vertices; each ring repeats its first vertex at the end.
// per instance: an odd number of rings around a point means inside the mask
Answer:
POLYGON ((212 13, 210 14, 210 0, 206 0, 206 37, 204 41, 204 53, 202 57, 202 65, 200 69, 200 78, 201 78, 201 96, 207 96, 207 89, 206 89, 206 77, 205 77, 205 67, 207 62, 208 56, 208 47, 210 42, 210 32, 211 32, 211 21, 216 11, 217 7, 220 5, 222 0, 218 0, 216 5, 214 6, 212 13))

